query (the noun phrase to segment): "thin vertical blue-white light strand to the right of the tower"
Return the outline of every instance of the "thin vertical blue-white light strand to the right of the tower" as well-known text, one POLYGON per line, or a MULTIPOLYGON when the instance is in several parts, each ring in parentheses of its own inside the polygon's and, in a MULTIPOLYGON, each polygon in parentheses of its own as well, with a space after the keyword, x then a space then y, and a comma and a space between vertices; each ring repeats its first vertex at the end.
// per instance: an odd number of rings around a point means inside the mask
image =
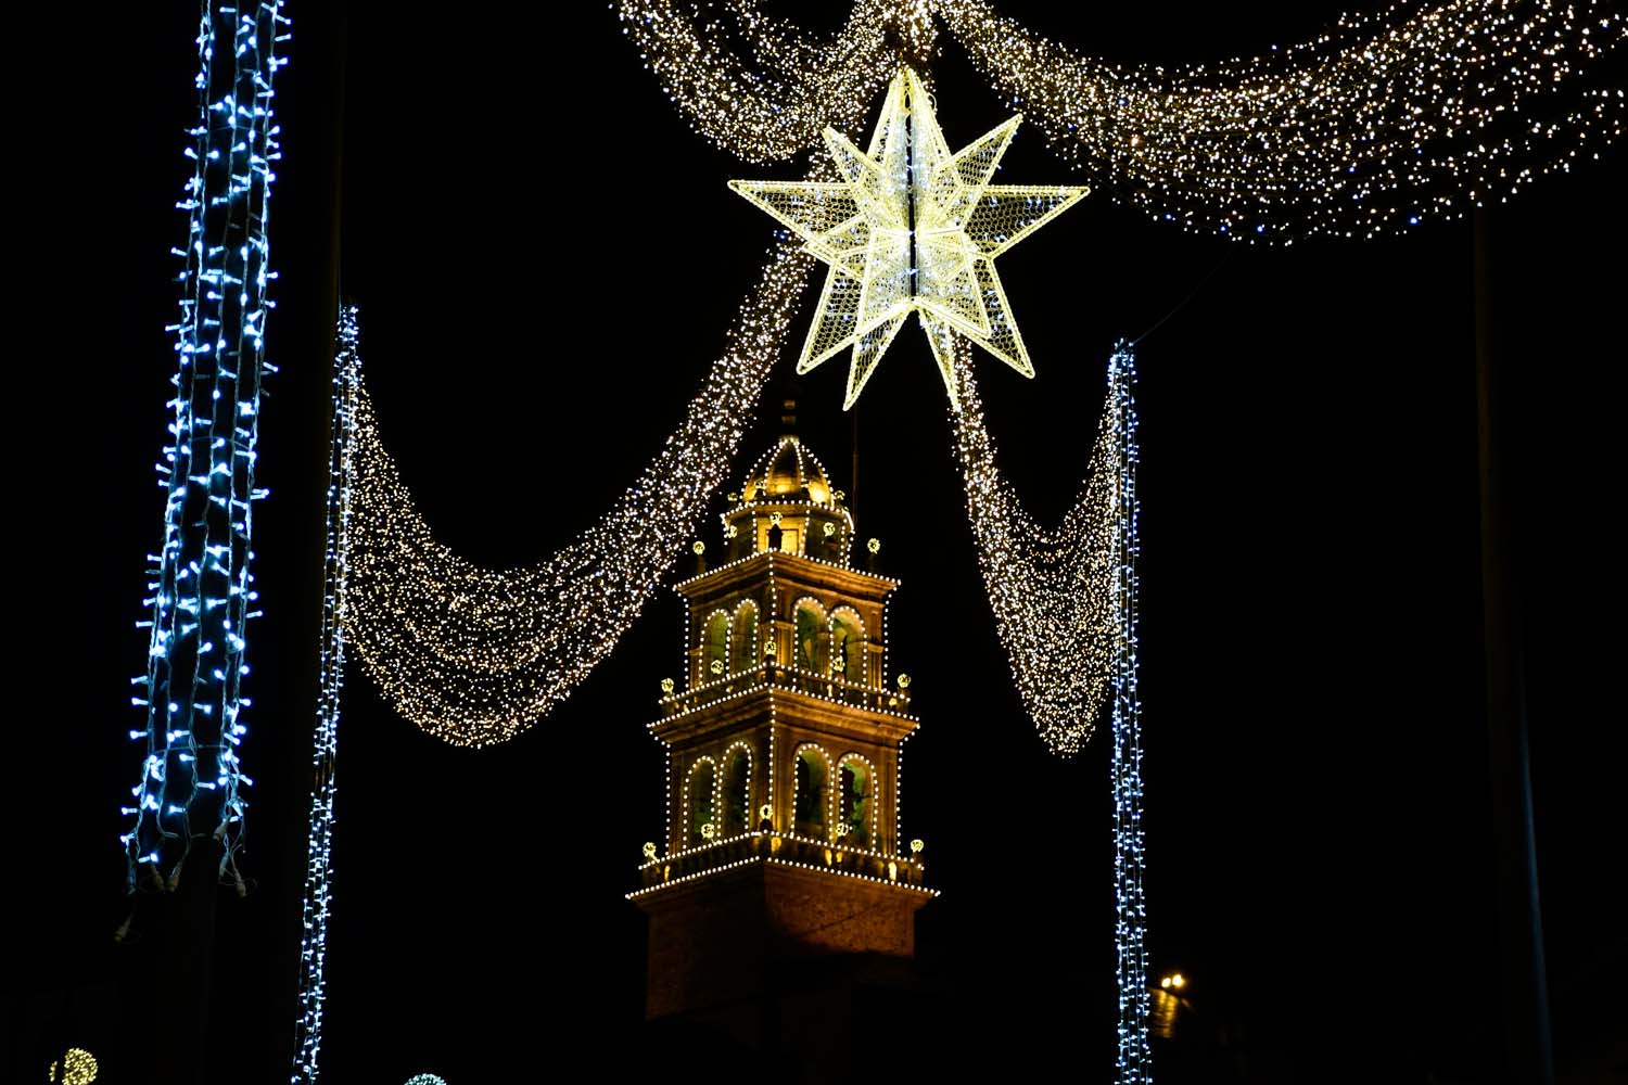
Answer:
POLYGON ((1148 1048, 1148 904, 1143 896, 1141 695, 1136 688, 1136 359, 1118 343, 1109 359, 1114 465, 1114 943, 1118 948, 1120 1085, 1151 1085, 1148 1048))

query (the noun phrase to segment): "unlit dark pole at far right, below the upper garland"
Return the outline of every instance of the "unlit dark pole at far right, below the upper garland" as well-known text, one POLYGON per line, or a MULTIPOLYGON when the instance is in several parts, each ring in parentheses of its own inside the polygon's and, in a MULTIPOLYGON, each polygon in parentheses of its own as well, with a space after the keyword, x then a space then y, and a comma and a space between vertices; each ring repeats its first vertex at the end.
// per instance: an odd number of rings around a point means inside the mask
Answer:
POLYGON ((1506 371, 1498 356, 1493 215, 1475 211, 1475 402, 1481 491, 1481 630, 1498 893, 1506 1080, 1553 1085, 1555 1059, 1537 890, 1532 773, 1521 651, 1517 488, 1511 472, 1506 371))

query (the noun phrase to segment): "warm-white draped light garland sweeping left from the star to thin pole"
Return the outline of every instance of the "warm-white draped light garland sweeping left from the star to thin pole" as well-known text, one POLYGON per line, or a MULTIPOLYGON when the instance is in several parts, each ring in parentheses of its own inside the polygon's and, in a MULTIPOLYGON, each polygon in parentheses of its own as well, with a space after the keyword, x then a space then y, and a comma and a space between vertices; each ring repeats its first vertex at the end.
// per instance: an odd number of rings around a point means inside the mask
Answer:
POLYGON ((659 455, 596 525, 531 569, 482 569, 435 540, 358 382, 345 633, 397 712, 453 745, 506 742, 615 647, 695 538, 811 267, 791 244, 770 252, 659 455))

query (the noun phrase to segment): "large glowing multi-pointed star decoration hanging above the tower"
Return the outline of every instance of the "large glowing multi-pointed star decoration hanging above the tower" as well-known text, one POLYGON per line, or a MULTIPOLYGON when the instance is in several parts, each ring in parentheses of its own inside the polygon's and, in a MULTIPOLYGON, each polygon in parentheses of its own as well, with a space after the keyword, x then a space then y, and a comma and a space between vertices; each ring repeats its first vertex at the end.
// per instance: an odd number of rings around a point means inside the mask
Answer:
POLYGON ((956 333, 1034 376, 995 257, 1089 189, 990 184, 1019 122, 1022 114, 951 153, 920 76, 900 68, 864 151, 825 129, 825 146, 843 181, 729 182, 830 265, 798 373, 851 346, 843 410, 860 399, 912 312, 957 410, 956 333))

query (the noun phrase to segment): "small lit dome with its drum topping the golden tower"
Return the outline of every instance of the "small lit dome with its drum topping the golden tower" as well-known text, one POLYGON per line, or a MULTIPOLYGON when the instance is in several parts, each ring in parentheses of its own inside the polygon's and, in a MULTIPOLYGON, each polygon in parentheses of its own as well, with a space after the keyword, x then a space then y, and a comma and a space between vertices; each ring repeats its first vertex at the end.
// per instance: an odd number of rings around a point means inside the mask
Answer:
POLYGON ((757 457, 729 503, 723 521, 731 561, 772 550, 848 564, 853 517, 843 493, 796 436, 780 438, 757 457))

